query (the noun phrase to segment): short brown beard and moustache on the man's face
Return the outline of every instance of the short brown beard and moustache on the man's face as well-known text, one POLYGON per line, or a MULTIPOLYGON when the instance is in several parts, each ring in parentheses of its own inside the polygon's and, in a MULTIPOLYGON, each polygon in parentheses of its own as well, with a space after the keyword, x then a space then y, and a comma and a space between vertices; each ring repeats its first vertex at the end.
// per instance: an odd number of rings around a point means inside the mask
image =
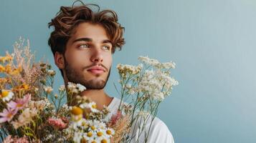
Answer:
MULTIPOLYGON (((75 83, 75 84, 82 84, 86 87, 86 89, 104 89, 105 85, 108 82, 108 78, 110 76, 111 66, 108 71, 108 76, 105 80, 103 79, 92 79, 92 80, 86 80, 83 74, 83 71, 87 69, 87 67, 83 67, 82 69, 74 69, 70 64, 67 63, 65 60, 65 72, 67 75, 67 79, 69 82, 75 83)), ((103 66, 103 65, 102 65, 103 66)), ((105 66, 104 66, 105 67, 105 66)), ((107 68, 105 68, 107 69, 107 68)), ((96 77, 99 77, 100 74, 96 74, 96 77)))

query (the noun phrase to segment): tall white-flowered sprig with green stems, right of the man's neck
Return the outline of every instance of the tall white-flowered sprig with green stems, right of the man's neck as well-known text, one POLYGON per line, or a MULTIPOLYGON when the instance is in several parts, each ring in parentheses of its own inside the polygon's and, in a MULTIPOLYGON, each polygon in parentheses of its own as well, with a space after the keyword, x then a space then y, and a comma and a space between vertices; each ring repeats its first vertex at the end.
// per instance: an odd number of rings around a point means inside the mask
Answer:
MULTIPOLYGON (((145 133, 147 138, 150 128, 146 130, 145 123, 151 116, 152 120, 149 122, 153 122, 158 105, 171 94, 173 87, 179 82, 171 77, 170 70, 175 69, 176 66, 174 62, 161 63, 157 59, 148 58, 148 56, 139 56, 138 60, 143 64, 138 66, 118 64, 120 96, 121 102, 125 99, 133 103, 132 109, 128 110, 129 114, 133 115, 129 126, 141 124, 142 127, 138 134, 145 133)), ((118 109, 123 111, 121 102, 118 109)), ((129 140, 131 141, 131 137, 127 136, 125 142, 129 142, 129 140)))

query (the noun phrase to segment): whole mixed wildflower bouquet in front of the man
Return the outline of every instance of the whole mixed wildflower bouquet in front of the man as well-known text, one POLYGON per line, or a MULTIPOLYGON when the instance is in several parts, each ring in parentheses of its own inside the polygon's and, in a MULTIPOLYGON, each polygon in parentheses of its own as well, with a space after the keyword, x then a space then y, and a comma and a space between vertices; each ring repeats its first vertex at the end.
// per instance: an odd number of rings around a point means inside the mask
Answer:
POLYGON ((138 66, 118 64, 120 104, 110 119, 109 109, 80 94, 86 87, 69 82, 54 94, 52 66, 34 62, 29 41, 14 44, 0 56, 0 137, 7 142, 132 142, 150 130, 158 105, 178 82, 170 77, 173 62, 141 56, 138 66), (71 101, 72 106, 65 104, 71 101), (138 126, 137 126, 138 125, 138 126), (134 136, 133 128, 139 127, 134 136))

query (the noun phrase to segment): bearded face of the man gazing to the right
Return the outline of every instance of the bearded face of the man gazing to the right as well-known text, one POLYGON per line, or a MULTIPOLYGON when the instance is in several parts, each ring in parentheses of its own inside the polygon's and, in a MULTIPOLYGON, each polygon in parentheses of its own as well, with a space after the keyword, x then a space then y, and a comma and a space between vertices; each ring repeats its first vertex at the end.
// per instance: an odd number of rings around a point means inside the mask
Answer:
POLYGON ((87 89, 103 89, 112 64, 112 44, 99 24, 82 23, 67 41, 65 76, 87 89))

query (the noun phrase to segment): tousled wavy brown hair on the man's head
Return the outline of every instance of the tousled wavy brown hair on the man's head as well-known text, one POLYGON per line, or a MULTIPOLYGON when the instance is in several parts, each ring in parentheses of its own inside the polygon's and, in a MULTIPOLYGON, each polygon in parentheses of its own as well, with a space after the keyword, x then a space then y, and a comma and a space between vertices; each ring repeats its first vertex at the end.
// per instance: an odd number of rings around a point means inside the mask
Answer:
MULTIPOLYGON (((125 28, 118 23, 118 16, 115 11, 109 9, 100 11, 100 6, 97 4, 84 4, 82 1, 80 1, 82 5, 74 6, 75 2, 72 6, 61 6, 54 19, 48 23, 49 28, 54 26, 54 31, 52 31, 48 40, 52 54, 54 55, 56 51, 65 54, 67 41, 75 32, 76 27, 83 22, 103 26, 113 45, 112 53, 115 53, 116 48, 121 50, 123 44, 125 44, 123 38, 125 28), (97 6, 98 11, 93 11, 89 6, 97 6)), ((60 71, 63 76, 61 69, 60 71)))

